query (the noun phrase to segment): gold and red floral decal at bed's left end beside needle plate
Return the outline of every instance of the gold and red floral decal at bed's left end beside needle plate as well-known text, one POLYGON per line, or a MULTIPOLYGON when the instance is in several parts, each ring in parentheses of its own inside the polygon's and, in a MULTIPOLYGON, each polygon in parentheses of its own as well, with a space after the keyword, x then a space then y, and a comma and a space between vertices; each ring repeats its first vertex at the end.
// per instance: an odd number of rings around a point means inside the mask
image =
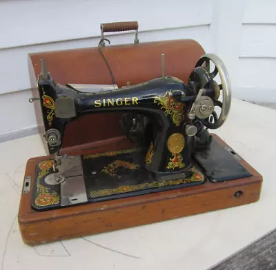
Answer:
POLYGON ((59 204, 59 195, 57 192, 53 191, 49 193, 47 187, 41 185, 40 180, 43 176, 48 174, 49 170, 52 168, 52 160, 44 160, 39 163, 39 175, 37 176, 37 198, 35 198, 34 203, 37 206, 48 206, 59 204))

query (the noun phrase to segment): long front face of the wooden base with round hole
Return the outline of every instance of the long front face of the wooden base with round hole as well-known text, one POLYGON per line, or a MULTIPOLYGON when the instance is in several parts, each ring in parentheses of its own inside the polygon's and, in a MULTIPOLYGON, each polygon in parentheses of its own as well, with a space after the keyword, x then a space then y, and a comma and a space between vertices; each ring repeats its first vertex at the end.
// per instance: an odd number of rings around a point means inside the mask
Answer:
POLYGON ((259 200, 261 186, 262 183, 253 183, 181 198, 172 196, 167 200, 152 203, 145 201, 139 205, 118 209, 102 209, 93 214, 53 217, 47 221, 34 222, 32 225, 21 223, 19 218, 19 227, 27 245, 39 245, 255 203, 259 200), (239 198, 235 198, 237 191, 243 192, 239 198))

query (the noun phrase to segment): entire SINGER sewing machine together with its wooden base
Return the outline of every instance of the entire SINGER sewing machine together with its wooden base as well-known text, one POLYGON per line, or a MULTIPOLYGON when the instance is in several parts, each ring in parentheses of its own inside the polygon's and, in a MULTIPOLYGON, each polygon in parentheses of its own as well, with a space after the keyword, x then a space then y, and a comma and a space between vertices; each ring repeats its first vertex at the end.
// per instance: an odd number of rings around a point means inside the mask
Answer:
POLYGON ((224 63, 204 54, 184 83, 165 74, 164 55, 160 62, 162 74, 155 79, 95 90, 95 85, 59 84, 41 60, 36 102, 50 156, 28 161, 19 209, 25 242, 36 245, 258 200, 262 176, 208 132, 221 127, 230 111, 224 63), (123 140, 109 148, 99 143, 73 154, 61 151, 67 125, 103 112, 110 116, 101 125, 122 112, 123 140))

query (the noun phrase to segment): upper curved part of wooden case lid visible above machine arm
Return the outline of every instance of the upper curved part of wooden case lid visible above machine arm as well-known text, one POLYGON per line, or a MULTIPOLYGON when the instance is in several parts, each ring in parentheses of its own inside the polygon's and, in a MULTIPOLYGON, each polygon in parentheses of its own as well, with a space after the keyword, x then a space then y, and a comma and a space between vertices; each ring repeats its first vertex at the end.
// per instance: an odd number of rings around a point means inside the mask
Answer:
MULTIPOLYGON (((157 41, 137 45, 106 45, 103 48, 118 87, 141 83, 161 76, 161 54, 165 54, 167 76, 176 76, 188 82, 195 63, 204 54, 196 41, 182 39, 176 41, 157 41)), ((29 69, 34 77, 41 72, 40 59, 46 65, 55 81, 66 83, 112 84, 108 67, 99 54, 98 48, 39 52, 29 55, 29 69), (32 70, 33 69, 33 70, 32 70)), ((32 87, 37 82, 32 81, 32 87)))

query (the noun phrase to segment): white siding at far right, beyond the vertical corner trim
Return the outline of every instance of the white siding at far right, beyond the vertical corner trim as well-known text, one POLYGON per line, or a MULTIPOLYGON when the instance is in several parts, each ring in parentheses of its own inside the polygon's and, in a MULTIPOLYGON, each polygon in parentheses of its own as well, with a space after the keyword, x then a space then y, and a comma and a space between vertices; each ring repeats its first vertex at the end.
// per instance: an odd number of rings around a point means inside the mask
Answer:
POLYGON ((246 0, 235 96, 276 102, 276 1, 246 0))

